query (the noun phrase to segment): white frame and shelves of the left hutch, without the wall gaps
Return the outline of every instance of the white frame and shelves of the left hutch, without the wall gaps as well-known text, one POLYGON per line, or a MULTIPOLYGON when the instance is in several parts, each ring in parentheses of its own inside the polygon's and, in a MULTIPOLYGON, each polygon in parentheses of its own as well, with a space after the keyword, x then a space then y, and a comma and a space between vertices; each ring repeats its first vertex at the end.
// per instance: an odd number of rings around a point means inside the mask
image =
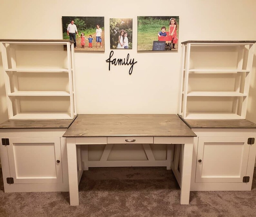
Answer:
MULTIPOLYGON (((0 43, 1 46, 1 53, 2 53, 2 60, 3 60, 3 68, 4 77, 5 77, 5 88, 6 88, 6 99, 7 99, 7 109, 8 109, 8 116, 9 119, 72 119, 74 118, 75 114, 75 104, 74 104, 74 86, 73 86, 73 79, 74 79, 74 69, 71 66, 71 56, 74 61, 74 44, 67 41, 2 41, 0 43), (15 61, 15 48, 16 45, 68 45, 67 47, 67 59, 68 59, 68 69, 66 68, 47 68, 47 66, 42 67, 35 67, 32 68, 28 65, 28 68, 23 67, 19 68, 16 65, 15 61), (12 46, 15 45, 15 46, 12 46), (10 47, 7 52, 6 46, 10 47), (70 48, 71 47, 71 48, 70 48), (8 64, 8 59, 11 59, 10 63, 8 64), (11 65, 9 68, 8 65, 11 65), (69 91, 19 91, 19 84, 16 72, 22 72, 20 75, 21 77, 26 73, 34 72, 34 73, 44 73, 44 72, 59 72, 59 73, 69 73, 69 91), (11 80, 11 81, 10 81, 11 80), (11 86, 10 83, 14 86, 14 92, 11 93, 11 86), (67 111, 64 113, 69 113, 68 115, 59 115, 59 113, 51 113, 56 114, 56 118, 49 117, 48 113, 44 111, 42 113, 31 113, 31 116, 27 116, 21 113, 20 109, 20 98, 18 96, 68 96, 70 99, 70 108, 67 108, 67 111), (13 106, 15 104, 15 106, 13 106), (13 107, 15 108, 15 113, 13 111, 13 107), (20 117, 21 115, 21 117, 20 117)), ((74 64, 73 64, 74 65, 74 64)), ((12 90, 13 91, 13 90, 12 90)), ((62 113, 62 114, 64 114, 62 113)))

